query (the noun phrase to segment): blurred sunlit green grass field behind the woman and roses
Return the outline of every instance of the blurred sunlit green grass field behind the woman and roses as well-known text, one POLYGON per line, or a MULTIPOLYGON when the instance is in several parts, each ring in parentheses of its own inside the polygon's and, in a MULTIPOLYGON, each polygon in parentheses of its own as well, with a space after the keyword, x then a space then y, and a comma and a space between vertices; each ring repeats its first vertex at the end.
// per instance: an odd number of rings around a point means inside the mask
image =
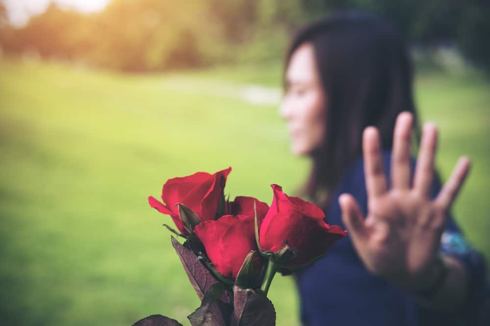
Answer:
MULTIPOLYGON (((120 75, 0 62, 0 317, 3 325, 131 325, 161 313, 187 324, 194 290, 147 204, 170 177, 233 167, 226 192, 270 202, 293 192, 294 158, 274 106, 243 84, 278 86, 280 65, 120 75), (239 92, 238 92, 239 93, 239 92)), ((424 121, 441 130, 438 166, 472 172, 454 213, 490 258, 490 83, 474 72, 417 77, 424 121)), ((277 325, 296 325, 294 283, 277 277, 277 325)))

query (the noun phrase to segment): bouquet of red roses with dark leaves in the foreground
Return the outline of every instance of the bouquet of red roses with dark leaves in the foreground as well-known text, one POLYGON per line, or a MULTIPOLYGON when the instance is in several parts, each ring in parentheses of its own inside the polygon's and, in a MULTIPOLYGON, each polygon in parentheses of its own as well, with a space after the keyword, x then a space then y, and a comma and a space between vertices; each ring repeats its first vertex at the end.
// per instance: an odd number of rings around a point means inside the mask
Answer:
MULTIPOLYGON (((163 203, 150 196, 151 207, 170 215, 178 237, 172 245, 201 305, 188 316, 192 326, 275 325, 267 298, 276 272, 291 274, 325 255, 346 235, 329 226, 314 204, 286 195, 271 185, 270 207, 253 197, 224 196, 231 168, 168 180, 163 203)), ((177 321, 152 315, 135 326, 176 326, 177 321)))

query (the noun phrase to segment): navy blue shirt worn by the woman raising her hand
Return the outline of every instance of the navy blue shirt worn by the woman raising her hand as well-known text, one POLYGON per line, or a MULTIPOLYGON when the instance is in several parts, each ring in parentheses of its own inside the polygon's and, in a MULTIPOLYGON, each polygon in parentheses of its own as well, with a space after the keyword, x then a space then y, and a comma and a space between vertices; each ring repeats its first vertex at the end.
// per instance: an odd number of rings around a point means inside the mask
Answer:
MULTIPOLYGON (((387 176, 390 154, 388 151, 383 153, 387 176)), ((440 182, 436 180, 433 197, 440 188, 440 182)), ((354 196, 366 215, 368 198, 362 159, 347 170, 324 209, 327 223, 341 225, 345 229, 337 200, 343 193, 354 196)), ((449 218, 442 237, 441 250, 463 261, 470 276, 468 303, 463 307, 465 311, 458 312, 458 318, 424 310, 412 294, 370 274, 347 235, 328 251, 325 258, 297 273, 301 321, 309 326, 476 325, 476 321, 469 321, 468 318, 475 316, 485 296, 482 292, 486 275, 484 260, 467 245, 452 218, 449 218)))

